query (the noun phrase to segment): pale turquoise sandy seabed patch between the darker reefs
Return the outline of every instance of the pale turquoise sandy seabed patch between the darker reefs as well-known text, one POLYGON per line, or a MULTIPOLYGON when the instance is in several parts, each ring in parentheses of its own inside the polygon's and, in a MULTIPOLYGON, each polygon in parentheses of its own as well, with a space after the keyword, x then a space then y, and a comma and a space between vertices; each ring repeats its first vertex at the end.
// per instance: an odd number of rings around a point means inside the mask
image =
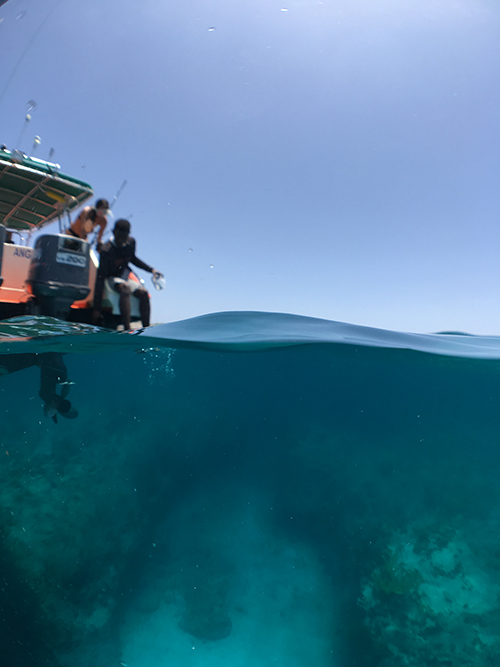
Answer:
POLYGON ((122 664, 338 664, 332 582, 315 555, 273 533, 263 498, 221 505, 220 496, 198 498, 164 526, 169 565, 154 566, 129 613, 122 664))

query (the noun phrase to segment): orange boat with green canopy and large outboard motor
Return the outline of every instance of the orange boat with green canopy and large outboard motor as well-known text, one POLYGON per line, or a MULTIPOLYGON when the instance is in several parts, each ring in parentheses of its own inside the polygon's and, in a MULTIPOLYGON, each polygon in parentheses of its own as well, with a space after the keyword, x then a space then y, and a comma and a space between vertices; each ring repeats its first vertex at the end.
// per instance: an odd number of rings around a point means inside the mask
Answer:
MULTIPOLYGON (((58 164, 0 148, 0 320, 40 315, 91 322, 99 258, 89 242, 64 232, 70 214, 93 194, 58 164), (55 222, 58 233, 38 234, 55 222)), ((104 326, 116 328, 119 312, 117 296, 108 292, 104 326)))

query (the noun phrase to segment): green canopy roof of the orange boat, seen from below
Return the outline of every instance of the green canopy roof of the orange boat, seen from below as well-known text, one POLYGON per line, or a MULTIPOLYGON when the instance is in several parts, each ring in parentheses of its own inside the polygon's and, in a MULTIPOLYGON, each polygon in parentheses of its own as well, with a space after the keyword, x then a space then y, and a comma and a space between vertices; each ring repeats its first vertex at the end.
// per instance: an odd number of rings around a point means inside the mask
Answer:
POLYGON ((41 229, 93 195, 84 181, 59 165, 0 150, 0 224, 17 231, 41 229))

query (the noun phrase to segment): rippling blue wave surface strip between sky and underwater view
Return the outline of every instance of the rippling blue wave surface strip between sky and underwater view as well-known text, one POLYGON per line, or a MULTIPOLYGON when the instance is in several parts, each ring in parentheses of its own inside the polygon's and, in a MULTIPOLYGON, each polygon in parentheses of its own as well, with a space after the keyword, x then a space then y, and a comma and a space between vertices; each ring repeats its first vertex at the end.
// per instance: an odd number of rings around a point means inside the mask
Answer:
POLYGON ((123 346, 258 351, 297 345, 352 345, 413 350, 475 359, 500 359, 500 336, 417 334, 376 329, 287 313, 230 311, 115 332, 47 317, 18 317, 0 324, 0 354, 85 353, 123 346))

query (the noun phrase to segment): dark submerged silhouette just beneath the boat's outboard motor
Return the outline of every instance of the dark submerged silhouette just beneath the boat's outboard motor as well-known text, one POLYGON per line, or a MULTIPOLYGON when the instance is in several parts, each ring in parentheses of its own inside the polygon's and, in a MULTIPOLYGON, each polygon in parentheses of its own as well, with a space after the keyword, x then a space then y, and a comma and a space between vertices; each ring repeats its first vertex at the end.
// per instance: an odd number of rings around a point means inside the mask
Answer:
POLYGON ((38 366, 40 368, 40 391, 43 412, 57 424, 57 415, 66 419, 75 419, 78 412, 66 398, 73 382, 68 380, 68 369, 58 352, 42 352, 41 354, 5 354, 0 355, 0 376, 22 371, 25 368, 38 366), (61 393, 57 393, 57 387, 61 393))

